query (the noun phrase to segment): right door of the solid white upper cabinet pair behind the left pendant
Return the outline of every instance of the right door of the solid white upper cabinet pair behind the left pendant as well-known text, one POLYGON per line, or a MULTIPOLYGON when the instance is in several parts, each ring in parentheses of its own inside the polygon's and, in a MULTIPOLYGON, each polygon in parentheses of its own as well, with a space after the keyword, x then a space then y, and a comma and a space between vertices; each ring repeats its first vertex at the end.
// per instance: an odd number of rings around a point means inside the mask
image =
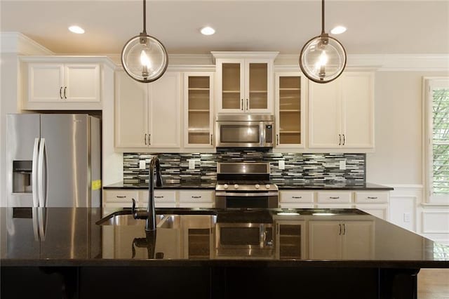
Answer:
POLYGON ((149 88, 149 146, 180 147, 181 76, 166 72, 149 88))

